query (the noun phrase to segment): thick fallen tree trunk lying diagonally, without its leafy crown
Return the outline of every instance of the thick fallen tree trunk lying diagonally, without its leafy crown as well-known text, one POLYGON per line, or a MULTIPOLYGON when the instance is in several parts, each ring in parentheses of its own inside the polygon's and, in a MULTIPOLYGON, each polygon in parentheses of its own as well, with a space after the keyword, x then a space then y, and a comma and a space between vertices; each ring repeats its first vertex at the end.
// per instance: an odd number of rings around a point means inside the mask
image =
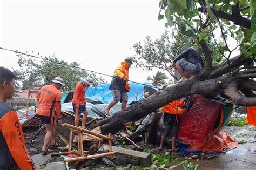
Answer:
POLYGON ((92 125, 91 128, 101 125, 103 134, 109 132, 113 134, 117 133, 124 127, 123 125, 127 121, 139 120, 171 101, 191 94, 215 96, 220 93, 226 93, 228 97, 240 105, 254 106, 256 105, 256 98, 242 96, 238 87, 242 84, 246 84, 247 81, 250 84, 255 83, 255 81, 242 77, 243 76, 241 76, 241 78, 239 76, 227 76, 204 81, 200 81, 196 77, 194 79, 184 81, 183 83, 166 87, 164 90, 154 93, 149 98, 145 98, 122 111, 116 112, 112 117, 99 121, 97 124, 92 125), (234 87, 237 87, 237 89, 234 87), (248 98, 250 98, 250 100, 248 100, 248 98))

